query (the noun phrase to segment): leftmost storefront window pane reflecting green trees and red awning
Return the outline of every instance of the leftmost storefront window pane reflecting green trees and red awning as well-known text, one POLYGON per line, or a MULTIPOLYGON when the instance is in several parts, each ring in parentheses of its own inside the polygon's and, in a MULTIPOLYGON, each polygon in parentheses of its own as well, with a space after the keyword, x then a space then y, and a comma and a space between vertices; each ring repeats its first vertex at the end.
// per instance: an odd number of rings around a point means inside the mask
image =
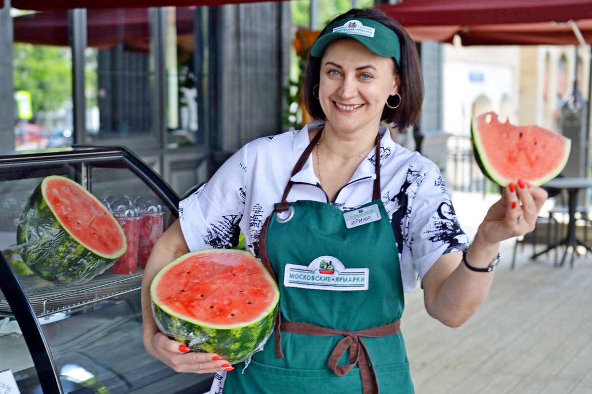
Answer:
POLYGON ((67 12, 12 9, 15 150, 72 144, 72 51, 67 12))

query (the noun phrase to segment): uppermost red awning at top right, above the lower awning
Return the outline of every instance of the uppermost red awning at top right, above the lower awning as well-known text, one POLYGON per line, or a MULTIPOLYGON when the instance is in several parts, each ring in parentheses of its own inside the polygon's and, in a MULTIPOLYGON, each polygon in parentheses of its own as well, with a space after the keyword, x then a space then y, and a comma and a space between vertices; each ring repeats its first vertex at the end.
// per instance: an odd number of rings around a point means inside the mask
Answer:
POLYGON ((404 26, 567 22, 592 18, 591 0, 404 0, 378 8, 404 26))

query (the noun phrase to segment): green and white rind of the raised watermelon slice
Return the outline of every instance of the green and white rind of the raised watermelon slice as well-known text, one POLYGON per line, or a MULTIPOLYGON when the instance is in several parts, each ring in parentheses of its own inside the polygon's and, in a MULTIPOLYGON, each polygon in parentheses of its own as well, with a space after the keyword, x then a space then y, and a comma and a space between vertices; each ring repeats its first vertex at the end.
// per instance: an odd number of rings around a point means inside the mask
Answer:
MULTIPOLYGON (((478 117, 474 117, 471 120, 471 138, 475 160, 477 161, 477 165, 479 166, 481 172, 485 175, 485 177, 489 178, 491 181, 500 185, 501 187, 506 187, 510 184, 510 182, 517 181, 515 179, 503 177, 496 171, 494 165, 488 161, 487 154, 485 153, 485 149, 483 143, 481 142, 480 134, 478 132, 478 117)), ((556 166, 554 171, 551 171, 548 174, 546 174, 545 177, 541 177, 535 180, 529 180, 530 184, 533 184, 535 186, 543 185, 546 182, 555 178, 557 175, 559 175, 561 171, 564 169, 565 165, 567 164, 568 159, 570 158, 570 151, 571 140, 566 138, 565 155, 563 155, 563 161, 561 162, 561 164, 556 166)))

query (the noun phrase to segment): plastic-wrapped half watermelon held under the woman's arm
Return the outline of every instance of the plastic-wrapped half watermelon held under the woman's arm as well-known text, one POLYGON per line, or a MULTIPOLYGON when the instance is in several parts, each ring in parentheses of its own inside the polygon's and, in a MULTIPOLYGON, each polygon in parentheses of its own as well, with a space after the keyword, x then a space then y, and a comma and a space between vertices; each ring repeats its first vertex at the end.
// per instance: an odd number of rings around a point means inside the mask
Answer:
POLYGON ((192 351, 238 363, 271 334, 279 290, 250 252, 204 249, 162 268, 150 296, 160 331, 192 351))

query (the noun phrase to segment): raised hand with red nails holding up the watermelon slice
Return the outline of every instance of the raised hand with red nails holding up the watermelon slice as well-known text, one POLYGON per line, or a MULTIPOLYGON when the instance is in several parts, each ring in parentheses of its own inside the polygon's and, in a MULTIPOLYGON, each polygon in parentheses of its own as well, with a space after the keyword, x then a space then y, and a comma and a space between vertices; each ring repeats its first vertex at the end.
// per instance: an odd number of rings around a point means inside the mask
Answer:
POLYGON ((479 226, 485 242, 496 244, 504 239, 525 235, 535 229, 547 192, 522 180, 504 187, 501 198, 493 204, 479 226))

